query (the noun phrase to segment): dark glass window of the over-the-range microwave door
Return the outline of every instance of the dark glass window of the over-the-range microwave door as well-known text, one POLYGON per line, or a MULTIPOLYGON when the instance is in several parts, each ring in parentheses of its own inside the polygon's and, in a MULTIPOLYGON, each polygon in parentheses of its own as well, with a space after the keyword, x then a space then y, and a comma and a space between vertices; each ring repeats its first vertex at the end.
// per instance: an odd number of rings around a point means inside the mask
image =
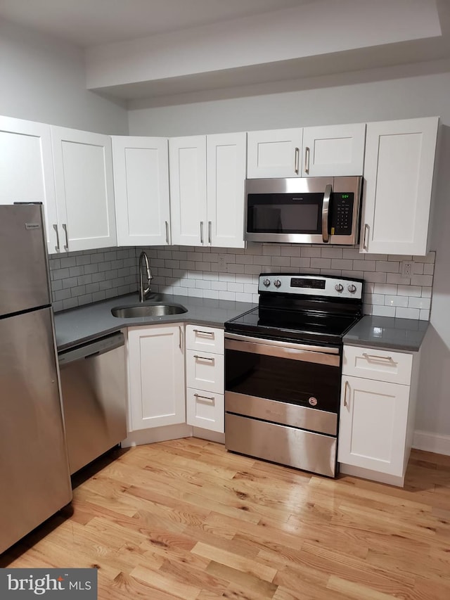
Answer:
POLYGON ((249 194, 248 232, 268 234, 314 234, 321 231, 322 193, 305 199, 278 194, 249 194))

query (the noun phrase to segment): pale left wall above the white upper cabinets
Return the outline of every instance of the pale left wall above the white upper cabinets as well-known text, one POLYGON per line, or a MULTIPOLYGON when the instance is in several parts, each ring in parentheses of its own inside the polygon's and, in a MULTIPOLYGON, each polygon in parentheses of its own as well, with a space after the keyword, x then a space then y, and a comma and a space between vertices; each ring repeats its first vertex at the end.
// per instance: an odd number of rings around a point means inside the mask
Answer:
POLYGON ((75 46, 0 22, 0 115, 127 134, 127 110, 86 90, 75 46))

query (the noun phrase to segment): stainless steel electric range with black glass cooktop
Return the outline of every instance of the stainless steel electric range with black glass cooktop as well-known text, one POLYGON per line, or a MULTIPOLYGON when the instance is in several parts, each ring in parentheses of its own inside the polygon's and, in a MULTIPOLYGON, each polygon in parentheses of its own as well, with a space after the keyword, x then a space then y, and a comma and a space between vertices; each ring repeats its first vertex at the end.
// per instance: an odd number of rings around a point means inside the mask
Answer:
POLYGON ((335 476, 342 336, 363 283, 259 276, 259 306, 225 324, 226 449, 335 476))

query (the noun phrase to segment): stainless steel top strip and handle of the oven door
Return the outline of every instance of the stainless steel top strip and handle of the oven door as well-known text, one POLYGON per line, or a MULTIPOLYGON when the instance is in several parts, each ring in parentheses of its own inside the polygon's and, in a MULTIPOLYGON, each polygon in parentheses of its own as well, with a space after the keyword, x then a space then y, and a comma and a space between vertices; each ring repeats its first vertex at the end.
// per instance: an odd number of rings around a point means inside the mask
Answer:
POLYGON ((225 349, 301 360, 303 362, 314 362, 316 364, 328 364, 329 366, 340 366, 338 348, 285 343, 278 340, 262 340, 261 338, 248 338, 245 336, 236 336, 233 333, 226 333, 225 349))

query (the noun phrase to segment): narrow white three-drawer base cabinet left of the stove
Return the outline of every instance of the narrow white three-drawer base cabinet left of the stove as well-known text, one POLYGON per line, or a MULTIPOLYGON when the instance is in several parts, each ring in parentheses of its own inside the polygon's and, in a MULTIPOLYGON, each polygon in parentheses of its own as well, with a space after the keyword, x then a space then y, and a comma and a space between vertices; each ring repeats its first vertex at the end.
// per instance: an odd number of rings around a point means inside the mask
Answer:
POLYGON ((186 423, 224 433, 224 411, 224 331, 186 325, 186 423))

